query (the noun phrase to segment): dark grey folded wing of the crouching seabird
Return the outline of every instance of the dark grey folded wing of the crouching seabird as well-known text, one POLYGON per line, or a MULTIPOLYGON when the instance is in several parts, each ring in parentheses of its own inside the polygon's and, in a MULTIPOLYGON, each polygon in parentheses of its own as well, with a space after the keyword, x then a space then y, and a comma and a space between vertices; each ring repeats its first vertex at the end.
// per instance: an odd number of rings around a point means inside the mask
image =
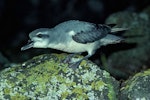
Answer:
POLYGON ((106 25, 95 25, 89 30, 81 30, 72 36, 73 40, 78 43, 92 43, 105 37, 111 31, 110 27, 106 25))

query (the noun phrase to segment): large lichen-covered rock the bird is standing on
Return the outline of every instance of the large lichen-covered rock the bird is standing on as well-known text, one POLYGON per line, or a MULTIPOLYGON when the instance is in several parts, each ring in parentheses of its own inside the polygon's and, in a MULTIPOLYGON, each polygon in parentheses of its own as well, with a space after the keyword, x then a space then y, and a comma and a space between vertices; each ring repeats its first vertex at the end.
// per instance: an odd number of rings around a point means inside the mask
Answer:
POLYGON ((44 54, 2 70, 0 99, 117 100, 119 82, 108 72, 88 60, 69 68, 65 57, 44 54))

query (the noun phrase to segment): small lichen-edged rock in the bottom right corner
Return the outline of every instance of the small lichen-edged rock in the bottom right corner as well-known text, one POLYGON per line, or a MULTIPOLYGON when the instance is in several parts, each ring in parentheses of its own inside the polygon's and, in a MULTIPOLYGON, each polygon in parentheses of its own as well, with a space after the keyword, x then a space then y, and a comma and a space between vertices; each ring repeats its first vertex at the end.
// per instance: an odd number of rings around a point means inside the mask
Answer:
POLYGON ((122 84, 120 100, 150 99, 150 69, 137 73, 122 84))

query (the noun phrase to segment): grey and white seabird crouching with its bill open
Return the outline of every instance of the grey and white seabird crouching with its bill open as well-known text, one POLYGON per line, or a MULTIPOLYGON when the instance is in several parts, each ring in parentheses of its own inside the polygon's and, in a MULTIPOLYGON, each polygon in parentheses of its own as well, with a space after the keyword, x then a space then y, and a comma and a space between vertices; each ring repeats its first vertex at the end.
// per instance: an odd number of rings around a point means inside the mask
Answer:
POLYGON ((82 60, 95 54, 101 46, 120 43, 124 39, 112 33, 127 30, 116 28, 114 24, 95 24, 86 21, 68 20, 53 28, 39 28, 29 33, 28 43, 21 51, 29 48, 52 48, 71 54, 87 52, 74 62, 75 68, 82 60))

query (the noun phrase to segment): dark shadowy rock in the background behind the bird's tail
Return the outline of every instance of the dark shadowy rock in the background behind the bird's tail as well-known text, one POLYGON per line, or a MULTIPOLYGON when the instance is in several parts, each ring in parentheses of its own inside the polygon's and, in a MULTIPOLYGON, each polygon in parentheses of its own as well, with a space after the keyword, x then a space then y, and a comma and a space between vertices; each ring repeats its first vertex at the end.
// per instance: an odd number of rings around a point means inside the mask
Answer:
MULTIPOLYGON (((118 12, 110 15, 106 23, 116 23, 117 27, 129 28, 124 34, 125 43, 118 44, 121 51, 108 57, 108 66, 122 73, 117 73, 116 76, 127 78, 133 72, 138 72, 143 65, 149 66, 150 19, 148 15, 142 12, 140 14, 118 12)), ((115 72, 111 73, 115 74, 115 72)))

